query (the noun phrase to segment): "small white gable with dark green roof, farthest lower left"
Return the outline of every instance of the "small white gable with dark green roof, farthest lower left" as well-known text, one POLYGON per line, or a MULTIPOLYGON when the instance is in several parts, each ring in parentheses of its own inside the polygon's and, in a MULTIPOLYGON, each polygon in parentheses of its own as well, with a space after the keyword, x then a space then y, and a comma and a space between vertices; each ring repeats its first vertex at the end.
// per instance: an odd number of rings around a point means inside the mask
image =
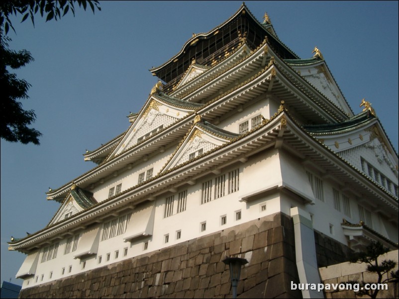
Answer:
POLYGON ((73 185, 64 203, 49 223, 55 224, 96 204, 93 194, 73 185))

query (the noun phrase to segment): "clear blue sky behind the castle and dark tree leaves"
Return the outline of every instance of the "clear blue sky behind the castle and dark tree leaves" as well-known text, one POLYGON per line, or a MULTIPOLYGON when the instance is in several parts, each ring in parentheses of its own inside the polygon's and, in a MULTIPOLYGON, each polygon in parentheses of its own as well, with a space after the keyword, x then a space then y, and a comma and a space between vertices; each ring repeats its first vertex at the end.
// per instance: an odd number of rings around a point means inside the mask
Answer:
MULTIPOLYGON (((246 1, 262 21, 267 11, 279 38, 301 58, 315 46, 355 114, 366 98, 398 151, 398 1, 246 1)), ((35 61, 18 70, 32 87, 40 146, 1 140, 1 278, 15 274, 25 255, 7 250, 49 223, 59 208, 47 201, 58 188, 96 166, 86 149, 124 132, 156 77, 148 71, 177 54, 193 33, 224 22, 241 1, 101 1, 101 11, 76 8, 35 28, 14 19, 10 48, 35 61)))

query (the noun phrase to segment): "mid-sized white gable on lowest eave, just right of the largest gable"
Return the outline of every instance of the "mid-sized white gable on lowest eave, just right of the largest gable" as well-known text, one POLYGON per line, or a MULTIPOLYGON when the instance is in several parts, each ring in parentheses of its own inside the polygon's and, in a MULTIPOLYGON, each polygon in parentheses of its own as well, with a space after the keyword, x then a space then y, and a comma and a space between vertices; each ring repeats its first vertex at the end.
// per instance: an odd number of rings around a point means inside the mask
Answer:
MULTIPOLYGON (((198 117, 198 116, 197 116, 198 117)), ((206 152, 223 146, 237 137, 207 122, 197 122, 164 166, 163 171, 186 163, 206 152)))

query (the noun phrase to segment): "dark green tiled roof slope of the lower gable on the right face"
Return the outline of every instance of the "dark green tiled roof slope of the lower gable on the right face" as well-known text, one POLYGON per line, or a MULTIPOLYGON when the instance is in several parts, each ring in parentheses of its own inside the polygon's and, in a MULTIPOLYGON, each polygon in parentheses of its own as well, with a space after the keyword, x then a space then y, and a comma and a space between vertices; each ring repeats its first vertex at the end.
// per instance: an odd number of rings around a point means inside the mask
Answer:
POLYGON ((365 124, 370 120, 374 120, 376 117, 370 113, 369 110, 363 111, 347 120, 336 123, 336 124, 322 124, 322 125, 306 125, 302 126, 308 133, 321 134, 321 133, 333 133, 347 131, 352 128, 358 127, 359 125, 365 124))

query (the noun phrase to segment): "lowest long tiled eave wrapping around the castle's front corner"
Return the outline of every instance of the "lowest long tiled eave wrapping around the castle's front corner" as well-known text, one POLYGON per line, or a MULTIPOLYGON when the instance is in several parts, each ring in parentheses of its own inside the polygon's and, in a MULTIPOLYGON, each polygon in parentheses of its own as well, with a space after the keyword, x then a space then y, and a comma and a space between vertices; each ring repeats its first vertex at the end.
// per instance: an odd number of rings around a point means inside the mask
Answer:
POLYGON ((206 154, 158 174, 151 180, 133 186, 90 209, 42 229, 24 239, 9 242, 12 250, 29 252, 40 248, 45 242, 60 238, 72 230, 81 229, 98 222, 118 211, 145 202, 157 196, 208 175, 215 168, 223 168, 238 161, 246 161, 251 155, 276 147, 277 140, 283 140, 281 147, 303 160, 311 160, 320 166, 328 178, 334 176, 345 182, 348 192, 364 198, 368 205, 378 209, 388 219, 398 224, 398 199, 380 188, 366 175, 339 155, 326 148, 308 135, 291 118, 286 110, 279 110, 270 120, 255 130, 241 135, 226 146, 220 146, 206 154), (285 120, 283 122, 282 120, 285 120))

